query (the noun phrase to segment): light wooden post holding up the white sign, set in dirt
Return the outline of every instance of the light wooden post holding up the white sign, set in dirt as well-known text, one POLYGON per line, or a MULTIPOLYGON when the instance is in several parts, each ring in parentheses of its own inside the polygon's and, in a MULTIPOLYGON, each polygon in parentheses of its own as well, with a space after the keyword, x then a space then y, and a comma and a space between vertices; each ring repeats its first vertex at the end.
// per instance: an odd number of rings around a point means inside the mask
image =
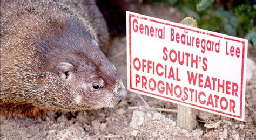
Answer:
MULTIPOLYGON (((184 18, 180 23, 187 26, 197 27, 197 20, 191 17, 184 18)), ((194 128, 196 128, 197 125, 196 109, 178 104, 177 124, 180 128, 191 132, 194 128)))

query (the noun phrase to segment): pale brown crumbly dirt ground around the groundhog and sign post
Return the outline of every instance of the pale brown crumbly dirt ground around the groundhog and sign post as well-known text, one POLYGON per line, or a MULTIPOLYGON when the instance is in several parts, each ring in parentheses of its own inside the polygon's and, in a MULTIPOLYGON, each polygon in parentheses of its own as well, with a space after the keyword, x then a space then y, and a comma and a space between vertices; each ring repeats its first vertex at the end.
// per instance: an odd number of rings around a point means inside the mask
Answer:
MULTIPOLYGON (((148 6, 140 8, 148 16, 180 22, 184 16, 175 8, 148 6), (159 12, 161 10, 161 12, 159 12)), ((256 49, 248 56, 256 61, 256 49)), ((110 60, 116 65, 126 85, 126 37, 114 38, 110 60)), ((253 64, 252 64, 253 65, 253 64)), ((255 64, 254 64, 255 65, 255 64)), ((245 122, 202 111, 197 112, 198 126, 191 133, 177 126, 177 105, 128 93, 117 108, 80 113, 49 112, 39 118, 15 120, 1 117, 1 139, 130 139, 130 138, 256 138, 256 74, 246 85, 245 122), (173 109, 173 112, 150 108, 173 109)))

